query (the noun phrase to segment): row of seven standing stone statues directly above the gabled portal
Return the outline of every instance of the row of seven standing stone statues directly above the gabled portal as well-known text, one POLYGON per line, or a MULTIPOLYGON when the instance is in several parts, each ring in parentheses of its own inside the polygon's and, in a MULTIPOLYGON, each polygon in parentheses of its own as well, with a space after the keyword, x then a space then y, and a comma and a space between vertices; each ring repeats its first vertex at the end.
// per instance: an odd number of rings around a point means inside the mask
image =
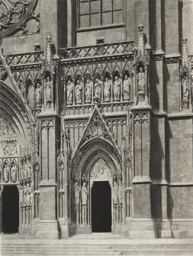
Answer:
POLYGON ((66 104, 82 104, 101 102, 110 102, 112 100, 121 100, 121 93, 123 93, 123 100, 130 100, 132 90, 132 77, 125 76, 123 81, 123 88, 121 92, 121 79, 116 76, 111 86, 109 77, 105 77, 105 81, 95 79, 94 82, 90 78, 86 79, 85 84, 78 80, 73 87, 71 80, 66 84, 66 104))

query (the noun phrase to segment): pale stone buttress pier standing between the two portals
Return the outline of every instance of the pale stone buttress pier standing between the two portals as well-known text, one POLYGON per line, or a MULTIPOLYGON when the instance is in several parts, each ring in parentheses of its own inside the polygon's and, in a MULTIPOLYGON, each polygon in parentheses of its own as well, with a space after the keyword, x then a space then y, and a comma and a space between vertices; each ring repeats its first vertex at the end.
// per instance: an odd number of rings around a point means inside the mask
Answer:
POLYGON ((40 114, 40 220, 36 237, 40 239, 58 238, 57 220, 57 169, 56 151, 59 134, 60 118, 57 114, 40 114))

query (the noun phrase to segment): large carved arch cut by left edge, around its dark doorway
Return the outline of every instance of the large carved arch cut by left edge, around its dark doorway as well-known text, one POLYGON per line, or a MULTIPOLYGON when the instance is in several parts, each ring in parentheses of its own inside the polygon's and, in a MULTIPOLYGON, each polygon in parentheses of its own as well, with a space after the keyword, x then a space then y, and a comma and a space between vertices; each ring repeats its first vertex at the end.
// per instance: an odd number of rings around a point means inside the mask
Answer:
POLYGON ((0 192, 2 194, 4 186, 17 186, 19 232, 30 233, 33 216, 31 170, 35 151, 33 117, 20 95, 3 81, 0 81, 0 118, 0 192))

